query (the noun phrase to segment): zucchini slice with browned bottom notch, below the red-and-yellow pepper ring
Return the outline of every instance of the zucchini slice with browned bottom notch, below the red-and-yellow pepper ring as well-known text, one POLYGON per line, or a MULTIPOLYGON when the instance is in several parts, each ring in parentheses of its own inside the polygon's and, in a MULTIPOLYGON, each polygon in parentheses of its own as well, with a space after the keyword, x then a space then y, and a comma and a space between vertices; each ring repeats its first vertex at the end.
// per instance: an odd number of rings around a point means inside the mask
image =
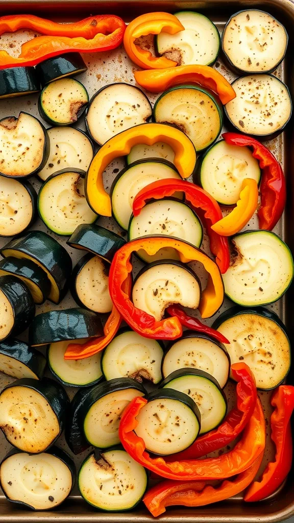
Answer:
POLYGON ((133 378, 156 384, 162 379, 162 358, 163 346, 159 342, 125 328, 107 345, 101 367, 106 380, 133 378))

